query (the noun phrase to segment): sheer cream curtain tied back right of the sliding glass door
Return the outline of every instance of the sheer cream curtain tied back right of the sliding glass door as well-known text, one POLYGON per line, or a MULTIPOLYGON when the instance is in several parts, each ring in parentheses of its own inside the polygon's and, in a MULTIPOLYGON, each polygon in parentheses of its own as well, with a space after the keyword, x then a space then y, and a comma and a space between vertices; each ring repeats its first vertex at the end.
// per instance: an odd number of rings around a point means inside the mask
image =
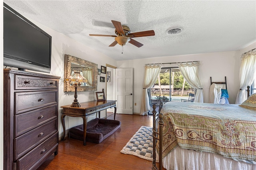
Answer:
POLYGON ((189 63, 178 63, 180 72, 188 84, 196 89, 195 102, 204 103, 204 91, 199 77, 199 61, 189 63))

